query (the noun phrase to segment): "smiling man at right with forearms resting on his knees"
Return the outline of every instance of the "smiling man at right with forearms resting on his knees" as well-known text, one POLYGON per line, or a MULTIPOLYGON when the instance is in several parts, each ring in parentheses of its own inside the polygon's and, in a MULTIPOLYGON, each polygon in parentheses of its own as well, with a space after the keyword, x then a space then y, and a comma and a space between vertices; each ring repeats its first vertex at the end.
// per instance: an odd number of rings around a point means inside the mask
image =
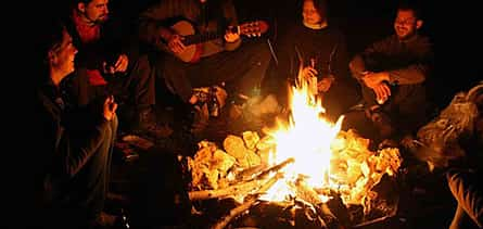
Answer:
POLYGON ((423 24, 418 11, 401 4, 394 21, 395 35, 374 42, 349 63, 363 88, 367 116, 381 138, 418 129, 428 118, 424 82, 432 68, 430 40, 418 34, 423 24))

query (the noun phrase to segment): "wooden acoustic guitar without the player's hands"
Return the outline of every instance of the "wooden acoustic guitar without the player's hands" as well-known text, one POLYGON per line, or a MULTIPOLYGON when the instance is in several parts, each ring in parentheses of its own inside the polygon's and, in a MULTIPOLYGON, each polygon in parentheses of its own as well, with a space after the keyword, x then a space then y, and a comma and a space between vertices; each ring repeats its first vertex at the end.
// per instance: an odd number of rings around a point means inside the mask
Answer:
MULTIPOLYGON (((208 31, 198 33, 194 26, 188 21, 179 21, 171 26, 178 35, 183 37, 182 43, 185 44, 185 51, 180 53, 173 53, 179 60, 187 63, 196 63, 200 61, 203 42, 215 40, 225 36, 225 31, 208 31)), ((268 23, 264 21, 255 21, 243 23, 230 28, 231 33, 237 33, 246 37, 259 37, 268 30, 268 23)))

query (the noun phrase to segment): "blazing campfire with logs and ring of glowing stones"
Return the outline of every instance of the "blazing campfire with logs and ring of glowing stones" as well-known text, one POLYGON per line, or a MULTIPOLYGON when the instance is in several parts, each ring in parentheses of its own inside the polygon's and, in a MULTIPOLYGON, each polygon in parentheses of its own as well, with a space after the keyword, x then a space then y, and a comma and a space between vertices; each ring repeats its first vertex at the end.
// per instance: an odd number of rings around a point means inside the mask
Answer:
MULTIPOLYGON (((369 219, 374 209, 395 213, 373 188, 384 175, 397 174, 402 164, 398 149, 369 150, 369 139, 341 130, 343 116, 335 124, 328 122, 320 100, 309 91, 309 84, 298 80, 291 88, 290 115, 265 129, 262 137, 256 131, 229 135, 223 147, 204 140, 196 154, 188 157, 192 201, 237 202, 212 228, 225 228, 263 204, 290 206, 292 213, 303 209, 318 228, 340 220, 341 208, 345 225, 369 219), (339 209, 331 202, 340 202, 339 209), (354 208, 360 209, 363 219, 347 214, 354 208)), ((292 226, 295 215, 287 219, 292 226)))

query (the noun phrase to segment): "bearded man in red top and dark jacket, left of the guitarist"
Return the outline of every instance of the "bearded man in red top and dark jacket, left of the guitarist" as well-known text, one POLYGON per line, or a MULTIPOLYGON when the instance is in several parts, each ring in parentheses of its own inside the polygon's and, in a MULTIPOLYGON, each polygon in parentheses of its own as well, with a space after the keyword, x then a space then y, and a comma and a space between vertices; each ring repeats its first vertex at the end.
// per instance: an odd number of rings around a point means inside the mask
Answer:
POLYGON ((114 94, 122 104, 124 130, 155 138, 168 135, 156 120, 155 76, 148 54, 125 33, 130 28, 110 18, 109 0, 75 0, 69 11, 66 26, 79 50, 73 97, 82 105, 114 94))

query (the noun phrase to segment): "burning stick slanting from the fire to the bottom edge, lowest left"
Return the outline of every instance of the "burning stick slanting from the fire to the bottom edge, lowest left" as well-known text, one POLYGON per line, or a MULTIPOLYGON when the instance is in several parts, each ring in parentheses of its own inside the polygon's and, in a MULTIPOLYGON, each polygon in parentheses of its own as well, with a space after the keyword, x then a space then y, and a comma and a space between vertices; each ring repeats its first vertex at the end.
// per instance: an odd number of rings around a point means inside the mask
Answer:
POLYGON ((250 195, 246 198, 245 202, 241 204, 240 206, 234 207, 230 211, 230 213, 226 216, 224 216, 219 221, 217 221, 215 225, 213 225, 212 229, 223 229, 225 228, 234 217, 239 216, 240 214, 247 211, 252 205, 258 202, 258 195, 260 193, 264 193, 270 189, 271 186, 274 186, 277 180, 282 178, 282 174, 278 173, 272 178, 270 178, 258 191, 256 194, 250 195))

